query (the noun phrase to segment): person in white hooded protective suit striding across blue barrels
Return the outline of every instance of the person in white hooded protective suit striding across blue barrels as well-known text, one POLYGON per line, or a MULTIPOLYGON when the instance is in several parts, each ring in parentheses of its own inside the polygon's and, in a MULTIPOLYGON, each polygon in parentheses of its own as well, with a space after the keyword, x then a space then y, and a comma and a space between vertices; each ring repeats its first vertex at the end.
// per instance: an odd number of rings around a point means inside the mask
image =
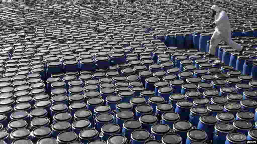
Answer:
POLYGON ((228 46, 235 49, 242 55, 243 48, 241 45, 235 43, 231 38, 231 27, 226 12, 221 11, 217 5, 212 6, 212 18, 215 21, 210 25, 211 28, 216 26, 215 31, 210 39, 209 54, 207 57, 214 57, 217 45, 224 40, 228 46))

